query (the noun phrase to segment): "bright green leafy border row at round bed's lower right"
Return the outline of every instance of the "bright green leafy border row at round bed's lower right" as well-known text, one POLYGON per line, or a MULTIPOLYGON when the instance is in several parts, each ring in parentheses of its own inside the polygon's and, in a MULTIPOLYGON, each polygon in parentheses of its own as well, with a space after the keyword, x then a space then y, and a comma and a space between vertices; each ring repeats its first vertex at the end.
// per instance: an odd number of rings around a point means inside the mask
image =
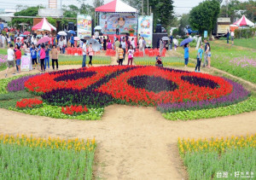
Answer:
POLYGON ((252 112, 255 110, 256 96, 250 96, 247 101, 239 102, 227 107, 163 113, 163 116, 168 120, 210 119, 221 116, 236 115, 238 113, 252 112))

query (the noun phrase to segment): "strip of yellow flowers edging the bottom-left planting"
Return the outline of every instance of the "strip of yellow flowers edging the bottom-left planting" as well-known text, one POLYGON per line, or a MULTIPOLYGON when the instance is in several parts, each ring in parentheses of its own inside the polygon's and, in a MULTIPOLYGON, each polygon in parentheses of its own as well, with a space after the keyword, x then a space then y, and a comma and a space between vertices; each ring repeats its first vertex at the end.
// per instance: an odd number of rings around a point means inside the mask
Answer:
POLYGON ((0 135, 0 144, 15 144, 30 148, 51 148, 51 149, 70 149, 75 151, 88 150, 94 151, 96 148, 95 139, 87 139, 87 141, 76 139, 61 140, 60 138, 48 139, 26 135, 0 135))

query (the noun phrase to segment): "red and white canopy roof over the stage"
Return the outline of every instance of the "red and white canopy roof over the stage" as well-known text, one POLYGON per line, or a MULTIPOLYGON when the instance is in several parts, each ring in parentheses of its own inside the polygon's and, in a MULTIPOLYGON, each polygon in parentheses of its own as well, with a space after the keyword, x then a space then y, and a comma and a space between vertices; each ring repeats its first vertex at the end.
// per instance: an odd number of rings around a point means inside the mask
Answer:
POLYGON ((121 0, 113 0, 95 9, 96 12, 113 12, 113 13, 137 13, 137 9, 132 8, 121 0))

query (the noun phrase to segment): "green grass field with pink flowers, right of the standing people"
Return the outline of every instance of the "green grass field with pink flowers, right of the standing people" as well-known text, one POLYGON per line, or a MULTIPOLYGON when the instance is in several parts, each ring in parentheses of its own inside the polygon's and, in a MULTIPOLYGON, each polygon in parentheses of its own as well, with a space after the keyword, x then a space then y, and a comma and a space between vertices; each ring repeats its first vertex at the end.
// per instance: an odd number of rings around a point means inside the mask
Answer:
MULTIPOLYGON (((256 83, 256 50, 241 49, 218 41, 211 41, 211 66, 256 83)), ((183 48, 177 51, 183 54, 183 48)), ((195 48, 189 49, 189 57, 196 57, 195 48)))

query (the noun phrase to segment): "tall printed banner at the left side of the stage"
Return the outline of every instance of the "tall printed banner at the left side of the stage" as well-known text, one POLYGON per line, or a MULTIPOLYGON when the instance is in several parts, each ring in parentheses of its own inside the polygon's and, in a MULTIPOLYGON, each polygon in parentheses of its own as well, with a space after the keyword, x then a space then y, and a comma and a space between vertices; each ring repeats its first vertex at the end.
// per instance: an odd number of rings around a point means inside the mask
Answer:
POLYGON ((91 37, 91 17, 90 15, 78 15, 78 37, 91 37))

